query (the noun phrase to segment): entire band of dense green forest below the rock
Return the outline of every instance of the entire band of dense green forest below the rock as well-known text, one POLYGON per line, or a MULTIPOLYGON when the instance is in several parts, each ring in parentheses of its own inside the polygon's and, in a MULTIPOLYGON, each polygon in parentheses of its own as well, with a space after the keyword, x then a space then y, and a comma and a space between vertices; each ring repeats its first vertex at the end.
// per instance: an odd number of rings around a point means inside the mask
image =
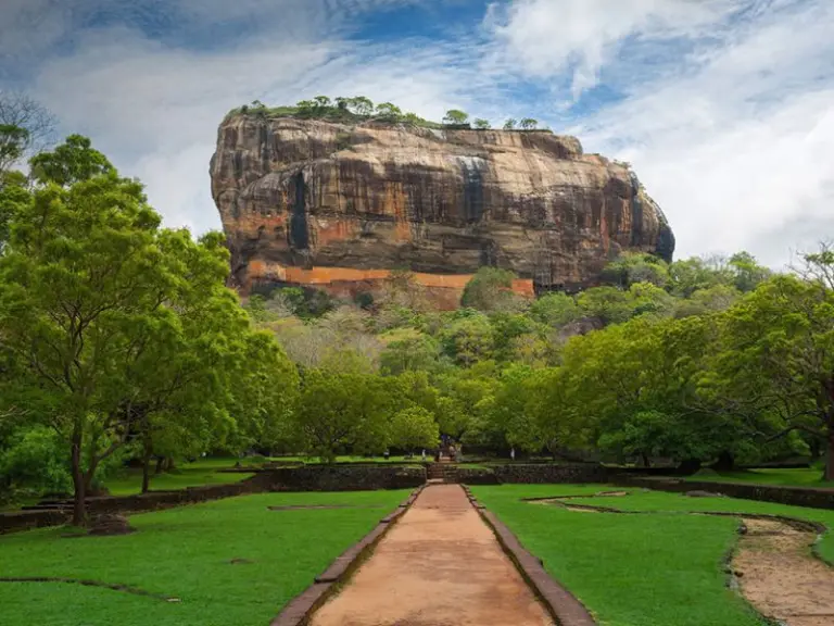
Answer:
POLYGON ((87 138, 38 147, 36 118, 0 120, 0 499, 72 491, 80 522, 126 462, 147 488, 203 452, 332 462, 441 434, 646 465, 827 455, 834 478, 826 245, 785 273, 630 254, 534 301, 484 267, 453 312, 407 272, 376 297, 242 305, 222 234, 163 227, 87 138))

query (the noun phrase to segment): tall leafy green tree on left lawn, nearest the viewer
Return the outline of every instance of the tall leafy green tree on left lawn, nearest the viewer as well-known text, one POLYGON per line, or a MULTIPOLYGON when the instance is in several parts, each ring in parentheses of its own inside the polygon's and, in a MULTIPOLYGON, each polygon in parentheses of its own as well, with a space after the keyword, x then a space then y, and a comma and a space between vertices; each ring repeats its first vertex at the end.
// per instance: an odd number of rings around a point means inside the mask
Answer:
POLYGON ((50 395, 47 420, 71 449, 83 524, 98 465, 130 431, 132 414, 114 392, 125 353, 170 315, 163 303, 175 277, 140 185, 118 178, 89 141, 74 136, 33 161, 40 187, 0 259, 0 328, 7 350, 30 364, 22 384, 50 395))

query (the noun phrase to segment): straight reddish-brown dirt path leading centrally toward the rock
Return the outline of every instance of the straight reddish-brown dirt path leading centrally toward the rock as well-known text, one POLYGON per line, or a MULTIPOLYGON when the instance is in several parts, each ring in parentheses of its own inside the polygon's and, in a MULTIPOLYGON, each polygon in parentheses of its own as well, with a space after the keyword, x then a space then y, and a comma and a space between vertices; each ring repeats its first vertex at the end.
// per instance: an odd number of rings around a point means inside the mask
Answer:
POLYGON ((551 626, 458 485, 432 485, 312 626, 551 626))

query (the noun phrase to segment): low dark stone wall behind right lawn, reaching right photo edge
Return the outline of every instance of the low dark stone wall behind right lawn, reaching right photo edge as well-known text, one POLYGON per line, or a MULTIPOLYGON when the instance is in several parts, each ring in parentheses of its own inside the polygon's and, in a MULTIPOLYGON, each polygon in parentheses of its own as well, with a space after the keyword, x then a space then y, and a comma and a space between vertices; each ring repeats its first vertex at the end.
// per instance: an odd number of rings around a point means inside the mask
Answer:
POLYGON ((680 480, 677 478, 648 478, 637 476, 611 476, 610 481, 623 487, 644 487, 658 491, 683 493, 711 491, 731 498, 778 502, 811 509, 834 509, 834 489, 808 489, 805 487, 778 487, 750 485, 749 483, 710 483, 708 480, 680 480))

